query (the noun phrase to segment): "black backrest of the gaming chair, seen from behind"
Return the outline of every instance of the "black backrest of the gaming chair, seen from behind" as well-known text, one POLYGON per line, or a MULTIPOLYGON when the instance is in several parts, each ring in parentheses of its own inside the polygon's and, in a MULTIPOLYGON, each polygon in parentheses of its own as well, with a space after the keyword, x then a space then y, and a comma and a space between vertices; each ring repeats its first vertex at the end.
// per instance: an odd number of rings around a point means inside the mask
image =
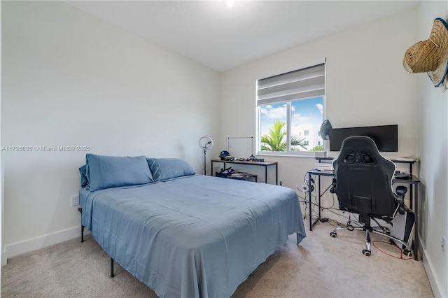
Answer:
POLYGON ((398 204, 392 190, 395 164, 368 136, 350 136, 333 159, 339 208, 374 218, 391 217, 398 204))

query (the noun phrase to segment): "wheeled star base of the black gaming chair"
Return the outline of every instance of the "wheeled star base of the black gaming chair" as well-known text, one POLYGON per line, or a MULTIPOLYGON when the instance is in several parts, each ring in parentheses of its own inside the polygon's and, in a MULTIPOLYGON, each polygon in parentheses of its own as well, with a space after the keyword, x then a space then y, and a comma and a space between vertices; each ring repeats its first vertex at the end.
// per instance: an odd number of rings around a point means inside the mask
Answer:
POLYGON ((365 249, 363 249, 363 255, 365 255, 366 257, 369 257, 372 254, 372 241, 370 240, 370 233, 374 233, 374 234, 378 234, 381 236, 385 236, 389 239, 389 241, 391 242, 391 244, 395 244, 395 243, 401 243, 402 246, 405 247, 405 250, 403 250, 403 254, 410 257, 412 255, 412 249, 410 247, 410 245, 408 243, 406 243, 405 241, 402 241, 401 239, 398 239, 395 236, 392 236, 391 234, 388 234, 389 231, 387 228, 384 227, 370 227, 370 225, 362 225, 359 227, 355 227, 353 225, 351 225, 351 222, 347 222, 347 225, 345 225, 344 227, 336 227, 335 229, 333 229, 332 232, 330 232, 330 236, 332 236, 333 238, 336 238, 337 236, 337 230, 339 229, 348 229, 349 231, 353 231, 355 229, 358 230, 363 230, 365 231, 365 249), (381 231, 385 231, 385 232, 381 232, 379 229, 381 229, 381 231))

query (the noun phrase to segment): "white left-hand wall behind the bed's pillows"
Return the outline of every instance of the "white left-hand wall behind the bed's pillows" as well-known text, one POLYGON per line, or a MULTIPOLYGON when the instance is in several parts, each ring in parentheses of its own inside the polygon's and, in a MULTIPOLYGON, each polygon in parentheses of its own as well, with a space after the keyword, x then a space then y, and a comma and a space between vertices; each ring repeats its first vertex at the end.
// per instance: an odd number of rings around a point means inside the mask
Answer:
MULTIPOLYGON (((2 146, 181 157, 202 173, 218 73, 60 1, 1 6, 2 146)), ((80 236, 70 197, 85 153, 2 152, 7 257, 80 236)))

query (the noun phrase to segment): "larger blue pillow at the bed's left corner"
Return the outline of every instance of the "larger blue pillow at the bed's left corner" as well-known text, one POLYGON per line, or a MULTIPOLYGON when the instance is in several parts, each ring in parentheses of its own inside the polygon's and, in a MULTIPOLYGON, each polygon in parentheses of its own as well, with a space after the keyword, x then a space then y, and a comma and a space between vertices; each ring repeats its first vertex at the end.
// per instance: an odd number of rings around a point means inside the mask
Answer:
POLYGON ((90 191, 154 182, 146 157, 85 155, 90 191))

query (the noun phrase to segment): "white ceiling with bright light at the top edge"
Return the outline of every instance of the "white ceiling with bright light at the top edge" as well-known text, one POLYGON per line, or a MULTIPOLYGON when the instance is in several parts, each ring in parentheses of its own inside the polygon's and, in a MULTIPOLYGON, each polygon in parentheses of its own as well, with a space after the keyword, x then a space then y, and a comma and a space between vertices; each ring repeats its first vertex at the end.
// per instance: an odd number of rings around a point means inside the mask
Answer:
POLYGON ((419 1, 66 1, 216 71, 418 6, 419 1))

